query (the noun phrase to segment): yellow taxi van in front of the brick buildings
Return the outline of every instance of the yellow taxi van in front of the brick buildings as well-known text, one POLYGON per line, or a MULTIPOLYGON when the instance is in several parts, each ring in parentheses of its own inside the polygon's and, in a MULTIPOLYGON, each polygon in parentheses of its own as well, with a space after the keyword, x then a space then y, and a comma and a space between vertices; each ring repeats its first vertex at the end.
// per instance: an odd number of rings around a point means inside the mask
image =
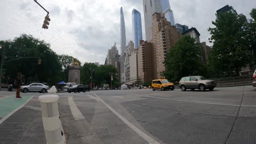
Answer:
POLYGON ((166 91, 167 89, 170 89, 171 91, 173 91, 174 85, 166 79, 153 80, 152 90, 155 91, 155 89, 161 89, 161 91, 166 91))

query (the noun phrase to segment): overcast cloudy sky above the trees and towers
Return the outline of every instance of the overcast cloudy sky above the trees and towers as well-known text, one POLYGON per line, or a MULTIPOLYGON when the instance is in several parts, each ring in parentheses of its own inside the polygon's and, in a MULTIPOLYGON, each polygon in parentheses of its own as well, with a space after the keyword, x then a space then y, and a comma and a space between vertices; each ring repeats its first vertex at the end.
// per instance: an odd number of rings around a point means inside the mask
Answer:
MULTIPOLYGON (((104 63, 108 49, 117 42, 120 53, 120 7, 123 6, 126 44, 132 40, 132 9, 142 15, 142 0, 37 0, 50 11, 49 29, 42 29, 45 11, 33 0, 0 0, 0 40, 32 34, 51 44, 58 54, 67 54, 84 62, 104 63)), ((237 13, 256 8, 255 0, 170 0, 176 23, 196 27, 201 42, 210 38, 207 31, 216 10, 231 5, 237 13)))

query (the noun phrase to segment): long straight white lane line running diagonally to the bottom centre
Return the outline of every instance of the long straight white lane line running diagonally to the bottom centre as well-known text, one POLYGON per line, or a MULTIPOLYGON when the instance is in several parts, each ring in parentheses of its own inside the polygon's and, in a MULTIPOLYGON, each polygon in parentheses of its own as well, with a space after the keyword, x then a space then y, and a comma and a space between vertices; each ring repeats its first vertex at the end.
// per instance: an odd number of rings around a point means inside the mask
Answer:
POLYGON ((134 130, 139 136, 141 136, 144 140, 146 140, 149 144, 160 144, 158 141, 154 140, 152 137, 135 127, 132 123, 127 121, 126 118, 121 116, 117 111, 115 111, 112 107, 110 107, 108 104, 105 103, 98 95, 94 93, 94 95, 97 97, 98 100, 100 100, 104 105, 108 107, 109 110, 111 110, 115 115, 117 115, 125 124, 127 124, 132 130, 134 130))

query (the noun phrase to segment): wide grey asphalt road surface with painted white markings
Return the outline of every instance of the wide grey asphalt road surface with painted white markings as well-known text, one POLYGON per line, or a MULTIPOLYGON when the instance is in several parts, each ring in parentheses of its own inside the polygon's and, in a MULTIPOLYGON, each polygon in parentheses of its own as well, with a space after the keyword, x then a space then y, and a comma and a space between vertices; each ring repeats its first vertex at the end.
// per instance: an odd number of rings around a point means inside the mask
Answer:
POLYGON ((67 143, 256 143, 253 87, 59 95, 67 143), (80 114, 71 111, 70 97, 80 114), (74 115, 84 118, 75 119, 74 115))

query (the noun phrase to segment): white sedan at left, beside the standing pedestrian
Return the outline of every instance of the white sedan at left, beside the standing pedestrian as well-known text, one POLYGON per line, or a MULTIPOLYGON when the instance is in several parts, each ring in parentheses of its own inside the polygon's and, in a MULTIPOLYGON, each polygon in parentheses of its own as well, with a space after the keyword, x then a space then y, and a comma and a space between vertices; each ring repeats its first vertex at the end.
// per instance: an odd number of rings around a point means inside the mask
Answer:
POLYGON ((47 89, 50 89, 49 86, 45 86, 43 83, 31 83, 28 86, 21 86, 20 91, 23 93, 27 92, 42 92, 46 93, 47 89))

